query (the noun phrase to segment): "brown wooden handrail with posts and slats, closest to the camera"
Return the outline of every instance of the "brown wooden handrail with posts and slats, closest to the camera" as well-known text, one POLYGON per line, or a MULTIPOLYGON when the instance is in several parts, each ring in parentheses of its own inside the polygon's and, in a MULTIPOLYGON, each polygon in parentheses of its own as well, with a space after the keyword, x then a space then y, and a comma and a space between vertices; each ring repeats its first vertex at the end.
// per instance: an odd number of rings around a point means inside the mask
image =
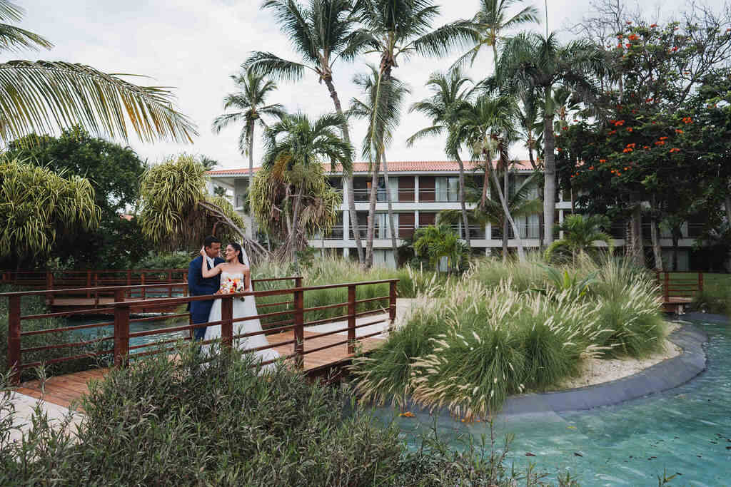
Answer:
MULTIPOLYGON (((140 285, 131 285, 131 286, 116 286, 116 287, 100 287, 100 288, 77 288, 74 291, 80 291, 80 292, 86 292, 86 291, 94 291, 96 292, 96 296, 98 299, 98 291, 113 291, 114 293, 114 303, 110 303, 105 305, 107 310, 112 310, 114 313, 114 321, 113 323, 94 323, 91 325, 81 325, 81 326, 71 326, 66 328, 58 328, 53 329, 53 331, 69 331, 72 329, 80 329, 80 328, 91 328, 94 326, 108 326, 110 324, 113 324, 114 334, 113 337, 108 337, 106 340, 113 339, 114 341, 114 350, 113 350, 113 357, 114 357, 114 364, 115 367, 125 367, 126 364, 129 362, 129 350, 131 350, 129 346, 129 339, 130 337, 137 337, 137 336, 148 336, 148 335, 154 335, 154 334, 164 334, 171 331, 186 331, 189 330, 192 332, 193 329, 200 328, 202 326, 214 326, 214 325, 221 325, 221 344, 226 347, 230 348, 233 345, 234 340, 234 323, 238 323, 241 321, 249 321, 251 319, 255 318, 266 318, 273 315, 293 315, 292 320, 285 320, 279 322, 279 324, 286 324, 291 323, 289 326, 281 326, 280 329, 284 330, 286 329, 292 329, 294 331, 295 339, 291 340, 290 342, 293 345, 293 353, 291 356, 295 359, 295 364, 298 365, 298 367, 303 367, 304 363, 304 356, 308 353, 312 353, 317 350, 322 350, 325 348, 335 347, 338 345, 342 345, 344 343, 347 344, 347 350, 348 353, 354 353, 355 351, 355 341, 361 340, 364 337, 356 337, 355 329, 361 328, 363 326, 368 326, 369 324, 374 323, 380 323, 381 321, 374 321, 372 323, 365 323, 356 326, 355 320, 359 316, 365 316, 365 315, 372 315, 376 314, 377 312, 380 312, 379 310, 371 310, 371 311, 364 311, 364 312, 357 312, 357 304, 360 303, 366 303, 366 302, 373 302, 376 299, 388 299, 389 305, 388 305, 388 312, 389 312, 389 319, 393 321, 395 319, 395 303, 396 303, 396 297, 397 297, 397 284, 398 279, 387 279, 387 280, 372 280, 372 281, 365 281, 360 283, 341 283, 341 284, 328 284, 328 285, 316 285, 316 286, 310 286, 310 287, 303 287, 302 285, 302 277, 301 276, 295 276, 295 277, 277 277, 270 280, 295 280, 295 287, 294 288, 285 288, 285 289, 272 289, 267 291, 249 291, 246 293, 238 293, 238 294, 210 294, 205 296, 180 296, 180 297, 167 297, 167 298, 161 298, 156 299, 154 302, 155 306, 165 306, 169 304, 183 304, 183 303, 190 303, 190 302, 196 302, 196 301, 208 301, 211 299, 221 299, 221 320, 211 323, 188 323, 184 326, 173 326, 173 327, 164 327, 162 329, 156 329, 156 330, 148 330, 148 331, 138 331, 136 333, 130 333, 130 315, 132 313, 132 309, 135 307, 138 307, 140 304, 149 304, 149 301, 145 299, 141 300, 128 300, 124 301, 125 296, 127 294, 127 291, 130 289, 137 289, 142 286, 140 285), (388 296, 380 296, 379 298, 374 299, 356 299, 356 291, 357 286, 363 286, 363 285, 381 285, 381 284, 388 284, 389 285, 389 295, 388 296), (322 307, 312 307, 312 308, 305 308, 304 307, 304 294, 307 291, 318 291, 322 289, 333 289, 333 288, 347 288, 348 289, 348 302, 346 303, 338 303, 336 305, 325 305, 322 307), (269 312, 260 314, 254 317, 242 317, 242 318, 234 318, 233 317, 233 299, 240 297, 240 296, 254 296, 256 297, 263 297, 263 296, 276 296, 281 294, 292 294, 293 299, 292 302, 286 302, 286 304, 292 303, 293 309, 292 310, 285 310, 285 311, 278 311, 278 312, 269 312), (332 308, 332 307, 341 307, 341 306, 347 306, 348 314, 344 316, 338 316, 336 318, 328 318, 325 320, 315 320, 310 321, 308 323, 305 322, 304 314, 306 312, 311 312, 314 310, 321 310, 325 308, 332 308), (304 329, 306 326, 314 326, 316 324, 321 323, 328 323, 333 321, 338 321, 343 318, 347 318, 347 328, 338 330, 338 331, 327 331, 325 333, 316 334, 314 337, 311 338, 317 338, 317 337, 323 337, 329 334, 334 334, 340 331, 347 330, 348 333, 348 340, 345 340, 344 342, 338 342, 335 344, 325 345, 313 350, 307 350, 305 351, 304 348, 304 342, 306 340, 304 329)), ((268 281, 268 279, 259 279, 258 282, 264 282, 268 281)), ((177 283, 178 285, 181 285, 183 283, 177 283)), ((165 283, 165 284, 151 284, 151 285, 145 285, 145 288, 164 288, 170 286, 171 283, 165 283)), ((83 345, 86 342, 80 342, 80 343, 73 343, 73 344, 61 344, 61 345, 48 345, 48 348, 42 347, 42 348, 30 348, 27 350, 21 350, 20 348, 20 338, 21 336, 25 335, 21 332, 21 321, 23 317, 20 315, 20 299, 22 296, 29 296, 29 295, 45 295, 45 294, 51 294, 54 290, 46 290, 46 291, 18 291, 18 292, 12 292, 12 293, 3 293, 0 294, 0 297, 7 297, 10 302, 9 310, 9 321, 8 321, 8 327, 9 327, 9 334, 8 334, 8 362, 10 364, 10 367, 12 368, 12 383, 18 384, 20 381, 20 371, 22 369, 31 367, 33 364, 22 364, 21 362, 21 354, 23 351, 37 351, 41 349, 53 349, 53 348, 69 348, 73 345, 83 345)), ((56 290, 55 292, 58 292, 56 290)), ((73 312, 61 312, 61 313, 48 313, 46 315, 34 315, 34 318, 43 318, 48 317, 49 315, 72 315, 73 312)), ((182 316, 178 313, 177 316, 182 316)), ((162 316, 160 319, 167 319, 167 316, 162 316)), ((42 330, 45 332, 45 330, 42 330)), ((40 332, 40 331, 38 331, 40 332)), ((267 330, 262 330, 261 332, 255 332, 253 334, 265 334, 267 333, 267 330)), ((36 334, 36 331, 26 332, 26 334, 36 334)), ((252 334, 252 335, 253 335, 252 334)), ((249 335, 249 334, 246 334, 249 335)), ((374 335, 374 334, 371 334, 374 335)), ((371 336, 368 335, 368 336, 371 336)), ((237 335, 238 337, 238 335, 237 335)), ((102 341, 102 340, 97 340, 102 341)), ((88 342, 88 340, 87 340, 88 342)), ((287 342, 287 343, 290 343, 287 342)), ((151 344, 152 345, 152 344, 151 344)), ((276 346, 281 346, 281 343, 276 343, 273 345, 270 345, 268 348, 274 348, 276 346)), ((142 348, 141 346, 135 345, 133 349, 142 348)), ((265 347, 267 348, 267 347, 265 347)), ((149 353, 135 353, 135 356, 142 356, 147 355, 149 353)), ((89 353, 86 356, 98 356, 99 353, 89 353)), ((76 358, 80 358, 83 356, 72 356, 67 358, 53 358, 53 363, 64 361, 64 360, 72 360, 76 358)), ((48 361, 50 363, 50 361, 48 361)), ((36 363, 34 363, 36 364, 36 363)))

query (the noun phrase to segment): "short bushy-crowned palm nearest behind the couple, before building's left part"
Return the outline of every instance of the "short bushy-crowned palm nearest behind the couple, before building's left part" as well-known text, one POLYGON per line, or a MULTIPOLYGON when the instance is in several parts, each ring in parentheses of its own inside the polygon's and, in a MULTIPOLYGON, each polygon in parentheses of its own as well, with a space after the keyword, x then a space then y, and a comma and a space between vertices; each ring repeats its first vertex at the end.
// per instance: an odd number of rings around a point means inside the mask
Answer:
POLYGON ((345 123, 346 120, 337 114, 310 120, 307 115, 297 113, 285 115, 264 132, 266 152, 262 166, 267 170, 279 168, 279 172, 289 172, 291 183, 287 189, 288 199, 292 200, 290 231, 279 255, 283 261, 296 262, 297 251, 307 246, 300 212, 308 171, 316 165, 319 168, 325 159, 330 161, 333 171, 337 164, 342 166, 343 172, 352 171, 352 146, 336 134, 336 131, 342 131, 345 123))

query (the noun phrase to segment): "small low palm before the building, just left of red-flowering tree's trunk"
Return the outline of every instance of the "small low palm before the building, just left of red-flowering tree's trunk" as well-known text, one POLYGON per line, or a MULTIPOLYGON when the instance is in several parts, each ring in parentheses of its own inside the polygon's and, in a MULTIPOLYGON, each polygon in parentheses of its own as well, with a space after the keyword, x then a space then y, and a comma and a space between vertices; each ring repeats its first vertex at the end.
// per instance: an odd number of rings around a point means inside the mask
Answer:
POLYGON ((580 255, 596 253, 596 242, 605 242, 610 252, 613 248, 612 237, 602 228, 609 228, 610 221, 606 215, 568 215, 558 229, 564 232, 564 238, 556 240, 546 249, 545 258, 550 261, 556 253, 565 250, 571 253, 572 261, 580 255))

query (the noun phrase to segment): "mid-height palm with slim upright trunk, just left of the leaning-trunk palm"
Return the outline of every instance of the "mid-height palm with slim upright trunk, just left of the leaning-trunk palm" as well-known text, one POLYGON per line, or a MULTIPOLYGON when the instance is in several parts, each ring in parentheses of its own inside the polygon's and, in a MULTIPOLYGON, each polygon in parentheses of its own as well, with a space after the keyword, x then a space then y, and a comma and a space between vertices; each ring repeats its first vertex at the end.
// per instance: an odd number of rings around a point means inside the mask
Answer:
MULTIPOLYGON (((417 101, 409 108, 409 112, 420 112, 431 118, 431 126, 417 131, 416 134, 406 139, 406 145, 411 147, 418 139, 432 135, 442 135, 452 131, 455 127, 455 115, 459 112, 464 102, 471 101, 474 93, 472 88, 464 87, 471 83, 468 77, 464 77, 460 69, 452 69, 449 74, 434 73, 426 82, 427 88, 433 93, 429 98, 417 101)), ((446 151, 446 148, 445 148, 446 151)), ((469 223, 467 218, 467 207, 464 194, 464 163, 457 153, 450 153, 459 165, 459 202, 462 213, 462 225, 465 229, 467 245, 469 241, 469 223)))

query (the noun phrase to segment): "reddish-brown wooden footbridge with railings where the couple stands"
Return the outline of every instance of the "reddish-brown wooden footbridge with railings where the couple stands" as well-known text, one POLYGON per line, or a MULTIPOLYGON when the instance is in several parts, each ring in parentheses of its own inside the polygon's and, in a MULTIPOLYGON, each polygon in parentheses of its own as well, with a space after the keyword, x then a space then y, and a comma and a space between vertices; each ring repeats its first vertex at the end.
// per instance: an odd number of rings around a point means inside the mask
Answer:
MULTIPOLYGON (((173 296, 173 288, 180 288, 181 294, 187 290, 186 286, 185 291, 182 290, 183 283, 63 290, 54 288, 0 294, 0 299, 8 299, 7 357, 11 365, 12 383, 20 386, 18 392, 21 394, 34 397, 43 395, 49 402, 67 406, 87 391, 89 380, 104 377, 108 372, 107 368, 94 367, 96 361, 107 361, 112 367, 126 367, 130 361, 143 356, 174 354, 179 340, 191 340, 194 329, 216 325, 221 326, 222 347, 233 346, 235 340, 265 334, 269 345, 254 350, 272 348, 279 352, 284 361, 302 369, 307 375, 327 375, 333 367, 349 363, 356 351, 377 347, 384 338, 383 331, 387 323, 395 319, 397 279, 304 287, 302 277, 295 276, 260 279, 256 283, 264 289, 216 296, 216 299, 221 299, 221 321, 200 324, 190 323, 189 313, 181 311, 181 307, 193 301, 209 300, 212 296, 173 296), (282 284, 293 284, 294 287, 276 288, 282 284), (161 288, 166 290, 168 296, 159 296, 161 288), (308 295, 322 295, 325 290, 340 290, 347 299, 344 302, 305 306, 308 295), (23 299, 40 297, 50 302, 60 292, 94 294, 94 307, 87 310, 51 310, 33 315, 21 313, 23 299), (109 302, 99 297, 110 293, 113 299, 109 302), (266 308, 266 312, 234 318, 233 299, 242 296, 253 296, 257 299, 257 307, 260 310, 266 308), (159 312, 170 309, 180 311, 159 312), (140 311, 156 313, 136 317, 134 313, 140 311), (99 323, 70 326, 56 326, 58 321, 52 319, 85 315, 109 315, 110 318, 99 323), (235 323, 256 318, 262 322, 262 331, 235 334, 235 323), (28 323, 25 329, 23 323, 28 323), (136 331, 132 326, 142 329, 136 331), (63 333, 68 337, 67 332, 88 334, 89 331, 97 331, 97 336, 91 340, 81 338, 73 342, 50 339, 52 334, 58 336, 63 333), (49 339, 40 341, 39 336, 49 339), (86 370, 52 377, 43 382, 28 380, 21 383, 21 377, 31 377, 30 369, 68 361, 75 361, 78 367, 86 370)), ((313 299, 317 300, 318 296, 313 296, 313 299)), ((213 340, 200 343, 211 342, 213 340)))

